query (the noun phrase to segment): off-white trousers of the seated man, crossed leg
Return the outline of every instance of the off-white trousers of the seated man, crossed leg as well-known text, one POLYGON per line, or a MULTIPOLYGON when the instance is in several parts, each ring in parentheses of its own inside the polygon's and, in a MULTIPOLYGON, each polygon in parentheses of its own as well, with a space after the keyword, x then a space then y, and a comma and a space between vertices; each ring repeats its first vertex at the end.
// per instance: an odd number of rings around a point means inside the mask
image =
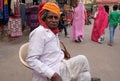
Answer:
POLYGON ((60 75, 63 81, 91 81, 87 58, 84 55, 78 55, 69 60, 63 60, 60 75))

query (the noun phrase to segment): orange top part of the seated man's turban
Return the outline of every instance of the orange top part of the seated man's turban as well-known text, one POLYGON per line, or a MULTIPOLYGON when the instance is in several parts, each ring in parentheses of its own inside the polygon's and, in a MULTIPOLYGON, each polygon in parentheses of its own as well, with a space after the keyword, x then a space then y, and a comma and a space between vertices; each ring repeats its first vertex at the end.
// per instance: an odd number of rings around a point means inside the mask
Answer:
POLYGON ((46 9, 48 11, 51 11, 55 14, 57 14, 57 16, 60 18, 60 8, 53 2, 47 2, 42 9, 46 9))

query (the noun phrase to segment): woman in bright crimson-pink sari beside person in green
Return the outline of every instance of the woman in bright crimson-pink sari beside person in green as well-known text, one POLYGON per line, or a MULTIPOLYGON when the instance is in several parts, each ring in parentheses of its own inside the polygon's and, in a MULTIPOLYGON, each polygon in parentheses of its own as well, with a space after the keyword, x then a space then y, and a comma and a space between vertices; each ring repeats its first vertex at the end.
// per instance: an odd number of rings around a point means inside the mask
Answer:
POLYGON ((94 25, 92 29, 91 40, 102 43, 104 41, 104 31, 108 27, 108 13, 105 11, 104 6, 98 7, 98 12, 94 18, 94 25))

